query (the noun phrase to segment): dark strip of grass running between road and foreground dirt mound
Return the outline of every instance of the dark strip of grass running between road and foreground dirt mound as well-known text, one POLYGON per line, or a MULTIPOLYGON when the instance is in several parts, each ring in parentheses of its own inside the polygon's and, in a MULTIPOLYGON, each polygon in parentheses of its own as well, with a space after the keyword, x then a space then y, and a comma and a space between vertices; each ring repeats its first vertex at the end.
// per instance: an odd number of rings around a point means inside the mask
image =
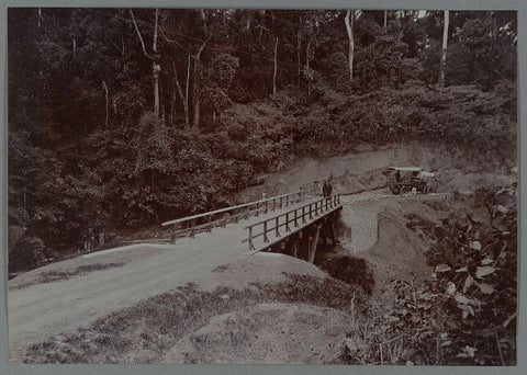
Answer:
POLYGON ((338 280, 288 276, 284 282, 254 283, 243 291, 217 287, 203 292, 188 284, 112 312, 89 328, 34 344, 27 349, 24 362, 158 362, 181 337, 203 327, 215 315, 260 303, 304 303, 347 311, 354 297, 358 306, 367 302, 360 288, 338 280))

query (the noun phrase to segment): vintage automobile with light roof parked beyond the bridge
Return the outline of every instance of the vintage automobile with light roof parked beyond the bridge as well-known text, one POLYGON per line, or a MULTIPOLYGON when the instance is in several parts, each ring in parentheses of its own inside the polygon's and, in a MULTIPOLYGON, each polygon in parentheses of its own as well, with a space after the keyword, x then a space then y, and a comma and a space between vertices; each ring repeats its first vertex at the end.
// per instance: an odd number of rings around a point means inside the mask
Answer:
POLYGON ((389 184, 393 194, 437 193, 438 181, 435 173, 419 167, 389 167, 389 184))

